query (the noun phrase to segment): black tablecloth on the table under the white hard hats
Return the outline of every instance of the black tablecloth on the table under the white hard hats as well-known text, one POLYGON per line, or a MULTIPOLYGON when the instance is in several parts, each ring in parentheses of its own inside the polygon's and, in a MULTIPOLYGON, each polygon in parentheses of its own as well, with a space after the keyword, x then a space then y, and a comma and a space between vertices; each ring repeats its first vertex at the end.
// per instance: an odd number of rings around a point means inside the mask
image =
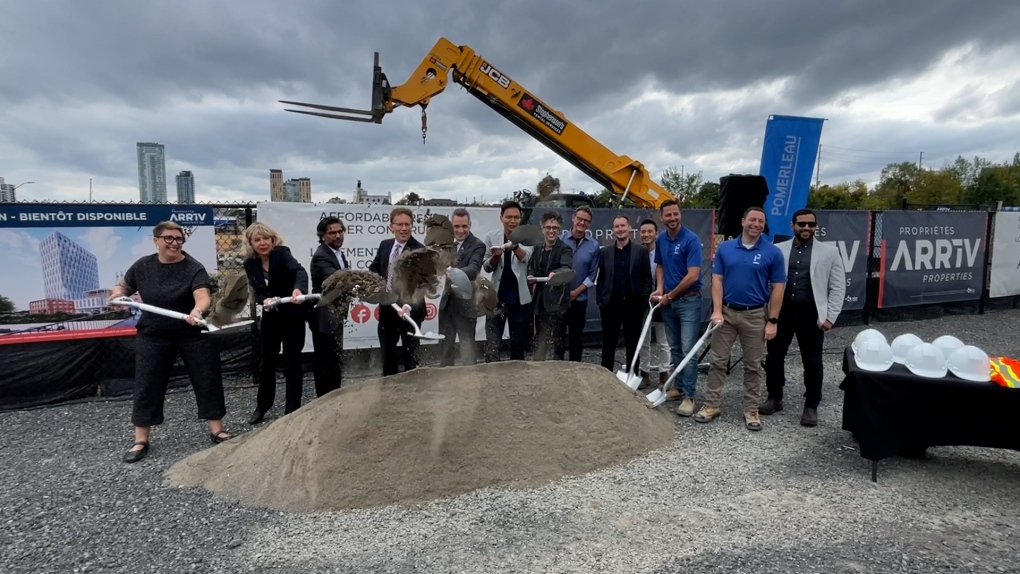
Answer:
POLYGON ((971 382, 953 373, 919 377, 897 363, 884 372, 866 371, 849 347, 843 372, 843 428, 858 439, 865 459, 928 447, 1020 451, 1020 388, 971 382))

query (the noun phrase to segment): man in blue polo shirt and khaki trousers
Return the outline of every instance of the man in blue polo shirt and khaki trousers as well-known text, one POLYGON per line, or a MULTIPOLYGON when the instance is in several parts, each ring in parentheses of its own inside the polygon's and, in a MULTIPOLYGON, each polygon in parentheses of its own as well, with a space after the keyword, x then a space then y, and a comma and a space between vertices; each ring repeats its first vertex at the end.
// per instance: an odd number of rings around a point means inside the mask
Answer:
POLYGON ((695 420, 710 422, 719 416, 722 387, 733 343, 744 351, 744 422, 749 430, 761 430, 762 355, 765 342, 773 338, 786 284, 786 266, 779 248, 762 239, 765 212, 750 207, 741 220, 740 238, 722 242, 712 262, 712 322, 719 325, 712 335, 708 392, 695 420))

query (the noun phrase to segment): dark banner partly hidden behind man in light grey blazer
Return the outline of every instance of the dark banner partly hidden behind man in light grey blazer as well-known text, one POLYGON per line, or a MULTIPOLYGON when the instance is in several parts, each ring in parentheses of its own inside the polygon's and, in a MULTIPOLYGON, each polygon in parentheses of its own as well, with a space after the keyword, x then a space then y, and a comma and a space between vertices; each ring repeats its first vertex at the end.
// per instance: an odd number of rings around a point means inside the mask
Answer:
POLYGON ((868 281, 870 211, 818 211, 818 241, 835 244, 847 271, 844 311, 864 309, 868 281))

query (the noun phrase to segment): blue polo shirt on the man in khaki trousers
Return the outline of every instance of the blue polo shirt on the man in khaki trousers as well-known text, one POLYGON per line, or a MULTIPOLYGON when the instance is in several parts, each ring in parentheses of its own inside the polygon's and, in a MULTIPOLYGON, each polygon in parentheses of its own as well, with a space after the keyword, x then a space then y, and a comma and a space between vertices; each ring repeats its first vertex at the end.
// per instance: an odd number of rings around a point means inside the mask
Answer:
POLYGON ((740 238, 722 242, 715 248, 712 272, 723 277, 723 303, 743 307, 765 305, 769 283, 786 282, 782 252, 764 238, 750 249, 740 238))

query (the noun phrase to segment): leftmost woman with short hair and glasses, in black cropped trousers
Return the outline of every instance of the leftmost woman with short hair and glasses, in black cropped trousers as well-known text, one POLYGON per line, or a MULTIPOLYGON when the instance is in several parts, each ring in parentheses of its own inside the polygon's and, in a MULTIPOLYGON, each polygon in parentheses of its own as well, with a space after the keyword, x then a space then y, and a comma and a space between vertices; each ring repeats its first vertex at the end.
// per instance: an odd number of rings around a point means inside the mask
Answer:
MULTIPOLYGON (((213 443, 232 438, 223 429, 226 407, 219 352, 196 320, 209 311, 211 281, 205 267, 185 252, 181 225, 164 221, 152 230, 156 253, 136 261, 112 290, 111 300, 138 294, 144 303, 188 315, 186 321, 142 313, 135 337, 135 395, 132 422, 135 445, 123 461, 134 463, 149 453, 150 429, 163 422, 163 401, 177 355, 188 369, 198 417, 209 421, 213 443)), ((115 304, 114 304, 115 305, 115 304)))

